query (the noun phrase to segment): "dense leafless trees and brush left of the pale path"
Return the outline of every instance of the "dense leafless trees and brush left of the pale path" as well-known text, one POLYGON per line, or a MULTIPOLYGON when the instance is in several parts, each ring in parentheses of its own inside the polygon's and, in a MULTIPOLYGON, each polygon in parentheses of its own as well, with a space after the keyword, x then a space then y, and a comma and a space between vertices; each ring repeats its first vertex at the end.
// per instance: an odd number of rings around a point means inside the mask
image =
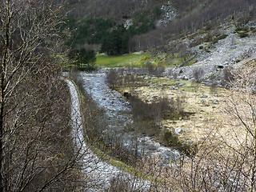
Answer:
POLYGON ((60 9, 50 1, 0 2, 1 192, 78 186, 71 184, 81 154, 69 135, 70 98, 50 57, 60 9))

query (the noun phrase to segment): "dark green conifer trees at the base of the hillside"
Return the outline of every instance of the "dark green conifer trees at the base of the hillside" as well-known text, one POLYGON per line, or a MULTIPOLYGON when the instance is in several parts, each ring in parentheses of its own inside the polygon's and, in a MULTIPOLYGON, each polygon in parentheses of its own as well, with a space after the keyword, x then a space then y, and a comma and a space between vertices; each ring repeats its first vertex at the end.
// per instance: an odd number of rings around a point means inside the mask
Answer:
POLYGON ((69 18, 66 26, 71 32, 71 37, 66 42, 72 50, 79 50, 81 47, 100 45, 97 50, 109 55, 121 55, 130 52, 129 42, 134 35, 146 34, 154 30, 154 22, 160 16, 161 10, 155 7, 154 10, 142 11, 134 16, 132 26, 125 28, 118 25, 109 18, 90 18, 82 22, 69 18), (86 46, 87 45, 87 46, 86 46))

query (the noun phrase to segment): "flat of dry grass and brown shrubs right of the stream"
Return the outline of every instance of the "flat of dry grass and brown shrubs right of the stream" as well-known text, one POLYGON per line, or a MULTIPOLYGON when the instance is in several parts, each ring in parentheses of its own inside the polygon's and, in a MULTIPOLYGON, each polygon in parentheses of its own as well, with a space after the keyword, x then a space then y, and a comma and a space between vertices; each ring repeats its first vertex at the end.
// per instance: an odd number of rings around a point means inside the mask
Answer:
POLYGON ((133 82, 124 84, 125 78, 117 77, 119 83, 114 84, 114 89, 129 98, 134 106, 134 116, 139 121, 154 122, 157 125, 152 126, 152 130, 142 129, 142 133, 150 134, 163 145, 176 146, 179 150, 183 148, 186 153, 195 150, 189 150, 187 146, 202 140, 208 129, 205 122, 219 118, 218 108, 225 104, 226 90, 216 86, 150 76, 134 77, 131 78, 133 82), (180 112, 170 113, 170 104, 176 105, 174 111, 180 112), (184 130, 182 134, 175 134, 177 128, 184 130), (190 144, 188 141, 191 141, 190 144))

